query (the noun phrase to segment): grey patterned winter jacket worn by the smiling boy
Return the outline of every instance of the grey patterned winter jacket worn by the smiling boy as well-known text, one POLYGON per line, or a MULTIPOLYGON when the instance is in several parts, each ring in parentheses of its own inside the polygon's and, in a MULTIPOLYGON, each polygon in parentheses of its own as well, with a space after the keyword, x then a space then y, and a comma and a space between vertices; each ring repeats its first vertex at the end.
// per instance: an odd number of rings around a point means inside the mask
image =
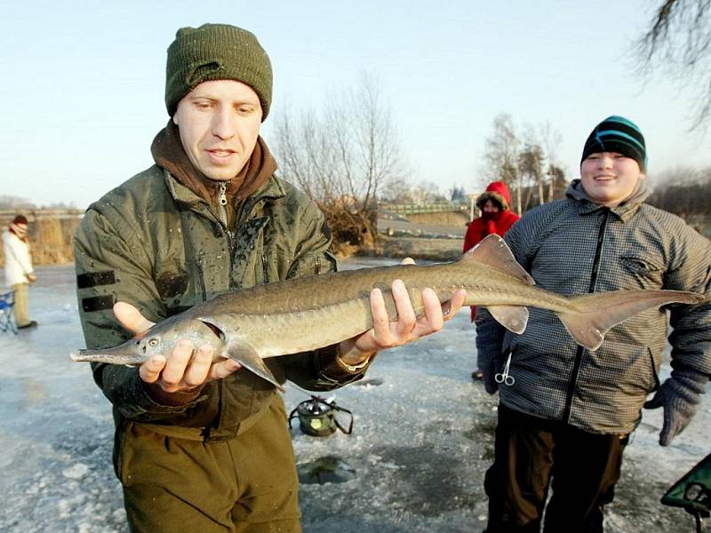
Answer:
MULTIPOLYGON (((705 293, 698 306, 669 306, 675 368, 711 375, 711 244, 683 219, 643 203, 644 185, 626 203, 591 203, 579 180, 566 198, 528 211, 505 240, 536 283, 563 294, 619 289, 705 293)), ((523 335, 477 317, 479 368, 500 369, 512 354, 513 386, 499 386, 507 407, 562 420, 590 433, 627 434, 659 387, 666 309, 651 309, 612 328, 603 346, 578 346, 554 314, 530 308, 523 335)))

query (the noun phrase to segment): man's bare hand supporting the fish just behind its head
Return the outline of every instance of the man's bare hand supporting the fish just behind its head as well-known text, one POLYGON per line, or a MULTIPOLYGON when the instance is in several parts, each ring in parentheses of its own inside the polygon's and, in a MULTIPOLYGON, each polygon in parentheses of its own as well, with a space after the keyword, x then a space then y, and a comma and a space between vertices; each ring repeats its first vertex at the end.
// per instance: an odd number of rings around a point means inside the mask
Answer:
MULTIPOLYGON (((153 326, 131 304, 117 302, 114 314, 118 322, 132 334, 142 333, 153 326)), ((212 379, 226 378, 241 367, 238 362, 225 359, 212 363, 214 349, 210 345, 194 349, 189 340, 181 340, 166 357, 155 355, 140 365, 140 378, 146 383, 156 383, 166 393, 185 392, 203 386, 212 379)))

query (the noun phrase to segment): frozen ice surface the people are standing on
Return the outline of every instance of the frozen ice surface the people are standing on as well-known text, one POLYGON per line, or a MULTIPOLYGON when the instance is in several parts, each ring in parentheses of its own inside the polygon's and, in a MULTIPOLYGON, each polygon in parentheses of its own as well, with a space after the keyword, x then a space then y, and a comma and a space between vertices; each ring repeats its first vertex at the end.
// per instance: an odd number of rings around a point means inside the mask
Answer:
MULTIPOLYGON (((73 267, 39 268, 29 292, 39 328, 0 333, 0 531, 124 533, 109 404, 89 365, 68 357, 84 346, 73 267)), ((353 434, 315 438, 295 427, 302 467, 333 456, 352 478, 301 485, 305 532, 483 530, 483 473, 491 462, 497 397, 471 381, 473 337, 462 311, 443 332, 380 354, 370 385, 329 396, 353 411, 353 434)), ((667 375, 665 364, 662 378, 667 375)), ((294 386, 286 389, 288 410, 308 399, 294 386)), ((659 497, 711 451, 710 421, 707 395, 691 426, 664 449, 657 444, 661 411, 645 412, 627 449, 608 531, 694 530, 690 515, 659 504, 659 497)))

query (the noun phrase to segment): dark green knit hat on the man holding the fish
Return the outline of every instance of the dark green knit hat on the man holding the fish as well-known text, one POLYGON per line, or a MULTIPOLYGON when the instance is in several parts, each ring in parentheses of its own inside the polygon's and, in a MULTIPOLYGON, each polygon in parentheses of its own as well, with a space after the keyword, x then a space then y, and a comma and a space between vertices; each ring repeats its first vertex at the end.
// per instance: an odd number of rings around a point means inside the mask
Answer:
POLYGON ((228 24, 180 28, 168 47, 165 107, 175 115, 178 102, 203 82, 236 80, 260 97, 261 120, 272 103, 272 65, 251 32, 228 24))

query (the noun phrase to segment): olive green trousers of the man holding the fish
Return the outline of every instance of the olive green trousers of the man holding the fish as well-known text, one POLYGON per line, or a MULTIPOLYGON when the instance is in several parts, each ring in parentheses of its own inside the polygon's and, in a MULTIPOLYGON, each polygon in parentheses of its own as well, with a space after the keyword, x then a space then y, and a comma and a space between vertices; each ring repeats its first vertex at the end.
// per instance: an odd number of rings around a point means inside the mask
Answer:
POLYGON ((281 397, 235 439, 203 442, 132 423, 119 459, 133 532, 300 533, 299 480, 281 397))

